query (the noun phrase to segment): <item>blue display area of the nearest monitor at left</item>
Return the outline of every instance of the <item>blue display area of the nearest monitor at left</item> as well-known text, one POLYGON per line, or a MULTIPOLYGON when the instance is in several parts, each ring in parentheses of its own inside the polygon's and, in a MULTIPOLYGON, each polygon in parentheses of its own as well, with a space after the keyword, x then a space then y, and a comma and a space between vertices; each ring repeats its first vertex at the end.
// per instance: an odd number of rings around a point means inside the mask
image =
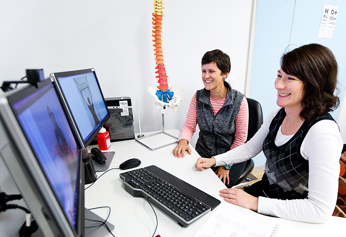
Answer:
POLYGON ((76 228, 79 148, 54 84, 12 107, 60 207, 76 228))

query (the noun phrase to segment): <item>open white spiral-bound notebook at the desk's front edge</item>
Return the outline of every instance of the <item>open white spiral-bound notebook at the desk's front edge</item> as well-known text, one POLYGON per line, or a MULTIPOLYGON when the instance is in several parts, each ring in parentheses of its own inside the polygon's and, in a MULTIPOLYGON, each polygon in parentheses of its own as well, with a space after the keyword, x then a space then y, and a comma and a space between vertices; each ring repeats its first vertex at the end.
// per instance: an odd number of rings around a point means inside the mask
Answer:
POLYGON ((277 237, 279 228, 274 218, 249 215, 232 204, 223 203, 194 237, 277 237))

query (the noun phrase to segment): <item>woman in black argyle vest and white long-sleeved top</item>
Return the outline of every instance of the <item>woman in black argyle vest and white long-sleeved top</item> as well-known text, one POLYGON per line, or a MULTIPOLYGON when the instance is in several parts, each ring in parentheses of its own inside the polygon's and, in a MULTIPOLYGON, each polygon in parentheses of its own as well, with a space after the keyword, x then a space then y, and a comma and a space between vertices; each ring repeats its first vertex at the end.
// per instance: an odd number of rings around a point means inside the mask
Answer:
POLYGON ((244 191, 221 190, 226 202, 290 220, 328 220, 336 204, 343 148, 339 127, 328 113, 339 104, 337 68, 331 50, 320 44, 283 55, 275 80, 279 107, 249 142, 195 164, 203 170, 239 163, 263 150, 262 179, 244 191))

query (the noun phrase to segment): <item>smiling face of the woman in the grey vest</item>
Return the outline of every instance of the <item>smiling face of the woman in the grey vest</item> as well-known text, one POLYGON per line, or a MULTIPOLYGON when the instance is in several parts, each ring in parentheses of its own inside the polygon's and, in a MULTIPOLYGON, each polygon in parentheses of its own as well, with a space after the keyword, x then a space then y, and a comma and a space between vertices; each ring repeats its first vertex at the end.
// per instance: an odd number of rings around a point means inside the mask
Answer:
POLYGON ((225 88, 224 78, 227 74, 222 74, 215 62, 202 65, 202 81, 207 90, 213 92, 221 91, 225 88))

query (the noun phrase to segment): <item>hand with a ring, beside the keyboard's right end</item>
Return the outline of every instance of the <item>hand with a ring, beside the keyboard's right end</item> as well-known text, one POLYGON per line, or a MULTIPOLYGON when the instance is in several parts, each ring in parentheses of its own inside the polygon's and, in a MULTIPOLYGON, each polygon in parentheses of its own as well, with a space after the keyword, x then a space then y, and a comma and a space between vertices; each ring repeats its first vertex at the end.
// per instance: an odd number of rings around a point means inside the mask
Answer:
POLYGON ((253 211, 258 210, 258 198, 245 193, 241 189, 220 190, 220 196, 228 203, 248 208, 253 211))

